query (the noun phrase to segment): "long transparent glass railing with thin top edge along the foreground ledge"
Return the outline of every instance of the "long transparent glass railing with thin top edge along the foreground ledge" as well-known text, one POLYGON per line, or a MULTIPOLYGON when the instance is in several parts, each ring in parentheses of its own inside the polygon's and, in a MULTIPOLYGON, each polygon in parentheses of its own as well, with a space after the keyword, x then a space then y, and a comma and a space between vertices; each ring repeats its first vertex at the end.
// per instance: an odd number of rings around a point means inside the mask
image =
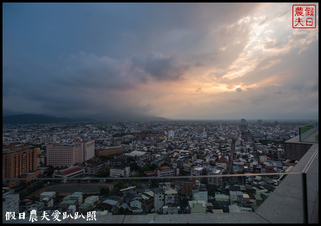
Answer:
MULTIPOLYGON (((21 218, 26 223, 35 219, 38 223, 48 219, 59 219, 63 223, 71 218, 76 222, 78 217, 88 221, 107 215, 178 214, 183 217, 192 213, 256 212, 289 175, 299 176, 302 182, 299 187, 297 184, 287 186, 288 190, 297 189, 302 194, 302 202, 297 205, 302 206, 304 222, 308 222, 312 212, 308 203, 318 198, 317 159, 312 156, 303 172, 3 179, 3 222, 21 218), (13 181, 20 181, 20 185, 5 188, 13 181), (30 185, 26 187, 27 184, 30 185)), ((282 211, 282 203, 276 205, 282 211)))

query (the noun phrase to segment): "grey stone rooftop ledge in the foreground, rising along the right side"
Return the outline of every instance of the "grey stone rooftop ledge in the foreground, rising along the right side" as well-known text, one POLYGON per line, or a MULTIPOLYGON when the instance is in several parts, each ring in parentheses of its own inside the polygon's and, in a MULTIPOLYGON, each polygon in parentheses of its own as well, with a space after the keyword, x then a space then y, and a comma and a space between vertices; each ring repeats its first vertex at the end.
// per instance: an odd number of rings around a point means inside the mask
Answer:
MULTIPOLYGON (((297 137, 286 143, 286 155, 293 156, 292 160, 299 158, 299 161, 256 212, 97 216, 95 223, 318 223, 318 143, 303 142, 297 137)), ((29 219, 3 222, 29 223, 29 219)), ((74 222, 70 218, 60 221, 74 222)), ((77 223, 88 221, 80 218, 77 223)))

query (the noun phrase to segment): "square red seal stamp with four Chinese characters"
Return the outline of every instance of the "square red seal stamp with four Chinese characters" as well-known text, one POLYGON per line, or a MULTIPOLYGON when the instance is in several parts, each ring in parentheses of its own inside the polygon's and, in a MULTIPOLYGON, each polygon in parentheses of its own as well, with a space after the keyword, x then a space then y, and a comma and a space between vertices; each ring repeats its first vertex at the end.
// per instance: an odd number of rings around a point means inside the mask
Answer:
POLYGON ((292 27, 316 28, 316 10, 316 5, 292 5, 292 27))

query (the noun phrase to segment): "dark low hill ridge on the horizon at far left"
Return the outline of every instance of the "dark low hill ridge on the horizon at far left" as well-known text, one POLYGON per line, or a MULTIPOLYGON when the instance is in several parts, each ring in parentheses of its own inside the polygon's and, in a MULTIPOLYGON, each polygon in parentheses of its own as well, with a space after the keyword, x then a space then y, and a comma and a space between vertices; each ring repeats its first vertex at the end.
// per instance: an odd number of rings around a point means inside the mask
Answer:
POLYGON ((53 115, 45 114, 16 114, 2 117, 2 124, 46 124, 59 122, 80 122, 80 121, 95 121, 93 119, 70 119, 58 118, 53 115))

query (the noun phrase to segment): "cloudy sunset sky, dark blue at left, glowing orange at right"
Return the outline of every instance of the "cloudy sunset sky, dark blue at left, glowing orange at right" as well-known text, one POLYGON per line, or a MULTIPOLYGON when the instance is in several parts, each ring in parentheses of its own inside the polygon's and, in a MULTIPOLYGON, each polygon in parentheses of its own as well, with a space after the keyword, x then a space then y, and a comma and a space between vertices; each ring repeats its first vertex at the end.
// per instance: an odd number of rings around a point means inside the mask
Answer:
POLYGON ((3 109, 57 117, 317 119, 299 3, 3 3, 3 109))

